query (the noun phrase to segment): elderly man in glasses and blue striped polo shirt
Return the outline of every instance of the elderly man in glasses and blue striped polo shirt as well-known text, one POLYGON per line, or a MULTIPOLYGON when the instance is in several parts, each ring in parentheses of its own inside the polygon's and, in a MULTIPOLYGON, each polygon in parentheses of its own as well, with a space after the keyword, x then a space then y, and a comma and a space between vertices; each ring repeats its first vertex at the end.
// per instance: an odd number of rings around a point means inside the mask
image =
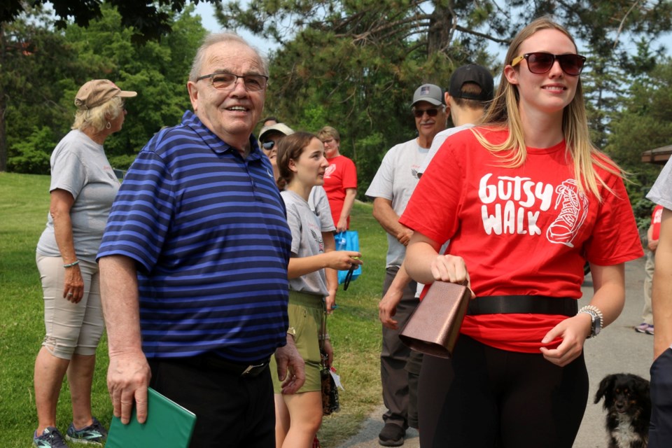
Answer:
POLYGON ((114 414, 128 423, 137 405, 145 421, 151 386, 195 412, 192 447, 274 447, 271 374, 284 393, 304 381, 287 334, 292 237, 251 134, 267 80, 239 36, 205 39, 193 113, 139 153, 98 253, 114 414))

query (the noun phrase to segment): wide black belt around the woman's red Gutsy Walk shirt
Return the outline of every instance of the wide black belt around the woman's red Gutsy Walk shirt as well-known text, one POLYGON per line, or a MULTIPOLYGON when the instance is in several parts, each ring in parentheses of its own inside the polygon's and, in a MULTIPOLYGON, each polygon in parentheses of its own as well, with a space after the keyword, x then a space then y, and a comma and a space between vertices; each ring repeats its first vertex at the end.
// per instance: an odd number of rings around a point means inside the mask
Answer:
POLYGON ((559 314, 575 316, 576 299, 547 295, 489 295, 469 301, 467 314, 559 314))

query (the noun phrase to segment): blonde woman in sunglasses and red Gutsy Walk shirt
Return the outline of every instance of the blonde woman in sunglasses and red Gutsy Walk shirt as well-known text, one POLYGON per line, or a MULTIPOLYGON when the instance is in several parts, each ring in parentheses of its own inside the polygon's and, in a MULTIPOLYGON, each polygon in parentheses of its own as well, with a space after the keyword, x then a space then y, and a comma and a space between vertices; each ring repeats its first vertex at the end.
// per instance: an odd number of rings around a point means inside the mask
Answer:
POLYGON ((483 124, 444 142, 400 218, 409 275, 475 296, 453 358, 423 358, 423 448, 573 445, 584 342, 620 314, 624 263, 643 255, 622 171, 589 138, 584 61, 548 18, 524 27, 483 124), (577 310, 586 260, 594 295, 577 310))

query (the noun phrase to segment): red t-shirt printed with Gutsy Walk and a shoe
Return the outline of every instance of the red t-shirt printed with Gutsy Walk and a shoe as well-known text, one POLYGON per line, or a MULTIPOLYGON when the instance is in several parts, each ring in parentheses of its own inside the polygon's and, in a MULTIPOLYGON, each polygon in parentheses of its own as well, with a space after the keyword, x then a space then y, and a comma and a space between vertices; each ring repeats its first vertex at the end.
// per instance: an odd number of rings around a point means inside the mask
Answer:
MULTIPOLYGON (((480 128, 495 144, 505 130, 480 128)), ((503 167, 471 130, 447 139, 420 179, 400 223, 464 258, 477 296, 581 297, 583 265, 617 265, 643 255, 619 176, 596 168, 613 190, 602 202, 580 193, 564 142, 527 148, 524 165, 503 167)), ((465 335, 498 349, 539 353, 565 316, 466 316, 465 335)), ((555 347, 560 339, 547 346, 555 347)))

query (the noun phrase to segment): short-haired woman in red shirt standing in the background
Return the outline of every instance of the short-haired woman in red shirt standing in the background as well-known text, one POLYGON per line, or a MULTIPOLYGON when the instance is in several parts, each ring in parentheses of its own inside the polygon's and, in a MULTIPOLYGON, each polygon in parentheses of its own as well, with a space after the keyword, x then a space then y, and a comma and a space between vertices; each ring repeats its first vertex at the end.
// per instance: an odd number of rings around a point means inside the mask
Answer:
POLYGON ((336 225, 336 232, 350 228, 350 211, 357 196, 357 169, 355 163, 339 153, 341 137, 335 128, 323 127, 317 133, 324 145, 329 167, 324 174, 324 190, 336 225))

